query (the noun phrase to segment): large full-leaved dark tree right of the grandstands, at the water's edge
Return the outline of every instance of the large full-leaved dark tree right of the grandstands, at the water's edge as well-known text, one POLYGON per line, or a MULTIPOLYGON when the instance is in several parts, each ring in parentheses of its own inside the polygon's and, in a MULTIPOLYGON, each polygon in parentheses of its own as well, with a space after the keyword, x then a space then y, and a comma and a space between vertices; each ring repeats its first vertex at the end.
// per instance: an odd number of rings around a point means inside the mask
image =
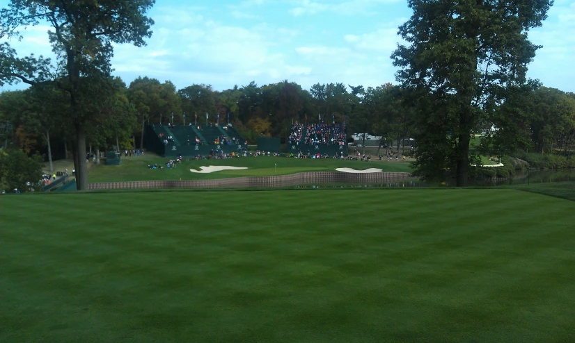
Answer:
POLYGON ((396 78, 415 108, 414 174, 465 185, 470 135, 496 113, 526 78, 539 48, 527 39, 551 0, 409 0, 399 28, 408 43, 391 56, 396 78))

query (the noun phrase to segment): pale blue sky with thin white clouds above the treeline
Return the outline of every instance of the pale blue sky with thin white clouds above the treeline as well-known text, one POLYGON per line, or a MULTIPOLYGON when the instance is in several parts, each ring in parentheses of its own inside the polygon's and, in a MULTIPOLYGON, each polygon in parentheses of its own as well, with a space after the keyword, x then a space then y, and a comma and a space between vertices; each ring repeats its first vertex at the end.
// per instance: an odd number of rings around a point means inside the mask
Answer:
MULTIPOLYGON (((400 0, 157 0, 149 15, 155 26, 147 47, 115 48, 114 74, 127 84, 149 76, 178 88, 225 90, 287 79, 308 89, 318 82, 395 83, 389 56, 411 11, 400 0)), ((20 54, 50 56, 47 30, 29 28, 13 45, 20 54)), ((530 40, 544 47, 528 76, 575 92, 575 0, 556 0, 530 40)))

